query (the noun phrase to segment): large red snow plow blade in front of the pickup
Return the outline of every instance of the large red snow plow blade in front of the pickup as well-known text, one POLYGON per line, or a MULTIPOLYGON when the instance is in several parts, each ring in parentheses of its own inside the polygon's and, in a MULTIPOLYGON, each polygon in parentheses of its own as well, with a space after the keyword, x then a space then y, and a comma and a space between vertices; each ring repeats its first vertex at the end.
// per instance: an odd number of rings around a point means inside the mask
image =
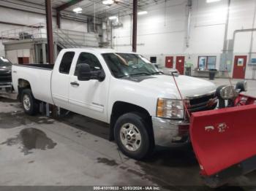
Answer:
POLYGON ((256 169, 255 98, 248 104, 192 114, 193 149, 211 187, 256 169))

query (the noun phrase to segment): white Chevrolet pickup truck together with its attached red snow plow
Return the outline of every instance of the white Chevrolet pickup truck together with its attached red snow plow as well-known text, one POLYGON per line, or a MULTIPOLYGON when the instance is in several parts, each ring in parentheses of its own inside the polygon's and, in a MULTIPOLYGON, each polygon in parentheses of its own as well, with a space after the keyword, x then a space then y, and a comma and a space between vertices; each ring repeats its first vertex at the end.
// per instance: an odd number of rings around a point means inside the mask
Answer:
POLYGON ((191 140, 211 187, 256 168, 256 98, 241 94, 246 82, 216 88, 163 74, 133 52, 90 48, 61 50, 54 66, 13 65, 12 82, 27 114, 48 103, 106 122, 110 139, 138 160, 191 140))

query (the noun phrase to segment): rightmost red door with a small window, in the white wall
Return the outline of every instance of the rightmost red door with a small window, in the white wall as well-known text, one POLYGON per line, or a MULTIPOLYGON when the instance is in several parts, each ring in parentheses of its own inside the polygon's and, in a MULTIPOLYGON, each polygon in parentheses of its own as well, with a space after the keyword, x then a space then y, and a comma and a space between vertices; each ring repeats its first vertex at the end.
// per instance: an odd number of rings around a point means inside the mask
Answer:
POLYGON ((244 79, 246 69, 247 56, 236 55, 234 62, 233 78, 244 79))

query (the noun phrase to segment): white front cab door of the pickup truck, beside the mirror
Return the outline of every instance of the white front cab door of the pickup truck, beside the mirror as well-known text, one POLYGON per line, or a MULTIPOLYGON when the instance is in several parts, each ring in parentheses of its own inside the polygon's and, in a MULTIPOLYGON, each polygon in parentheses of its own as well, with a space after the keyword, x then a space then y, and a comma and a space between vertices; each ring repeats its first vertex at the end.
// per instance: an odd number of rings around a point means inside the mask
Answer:
POLYGON ((106 75, 102 82, 97 79, 78 80, 77 66, 80 63, 87 63, 91 71, 104 71, 98 57, 90 52, 78 54, 77 62, 70 73, 69 107, 73 112, 107 122, 109 75, 106 75))

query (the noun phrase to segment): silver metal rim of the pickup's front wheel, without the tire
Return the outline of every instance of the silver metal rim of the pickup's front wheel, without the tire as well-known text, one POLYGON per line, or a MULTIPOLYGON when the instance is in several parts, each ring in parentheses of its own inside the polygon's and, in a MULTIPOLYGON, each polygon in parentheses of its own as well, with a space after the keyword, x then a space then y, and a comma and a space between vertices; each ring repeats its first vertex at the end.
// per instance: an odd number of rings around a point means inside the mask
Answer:
POLYGON ((137 151, 141 145, 141 135, 138 128, 132 123, 126 123, 120 130, 121 143, 129 151, 137 151))

